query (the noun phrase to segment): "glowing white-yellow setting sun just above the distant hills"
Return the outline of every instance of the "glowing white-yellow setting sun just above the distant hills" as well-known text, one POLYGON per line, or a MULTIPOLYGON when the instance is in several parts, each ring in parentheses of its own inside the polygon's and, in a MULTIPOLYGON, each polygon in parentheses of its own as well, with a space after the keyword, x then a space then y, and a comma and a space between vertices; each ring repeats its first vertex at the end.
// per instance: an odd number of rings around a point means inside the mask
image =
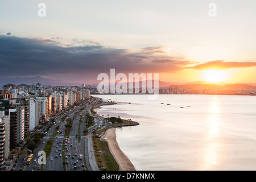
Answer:
POLYGON ((204 80, 209 82, 224 81, 226 78, 226 71, 217 69, 208 69, 204 71, 204 80))

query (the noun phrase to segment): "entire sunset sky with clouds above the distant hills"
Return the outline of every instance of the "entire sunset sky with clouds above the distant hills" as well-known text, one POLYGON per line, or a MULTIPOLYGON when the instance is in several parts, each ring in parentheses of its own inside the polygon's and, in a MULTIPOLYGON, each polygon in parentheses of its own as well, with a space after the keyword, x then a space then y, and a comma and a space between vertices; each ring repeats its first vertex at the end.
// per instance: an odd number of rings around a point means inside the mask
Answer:
POLYGON ((2 0, 0 17, 0 78, 256 82, 255 1, 2 0))

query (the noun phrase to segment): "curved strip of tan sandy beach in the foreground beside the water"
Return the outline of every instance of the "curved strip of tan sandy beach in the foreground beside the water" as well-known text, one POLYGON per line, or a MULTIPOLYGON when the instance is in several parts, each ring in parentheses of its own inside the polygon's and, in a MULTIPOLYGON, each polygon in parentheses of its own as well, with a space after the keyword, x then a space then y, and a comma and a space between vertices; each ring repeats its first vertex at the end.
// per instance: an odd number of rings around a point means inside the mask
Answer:
POLYGON ((135 171, 135 167, 130 162, 125 154, 123 154, 122 150, 119 148, 116 135, 115 128, 108 129, 104 136, 101 139, 105 139, 108 142, 109 150, 117 161, 119 168, 121 171, 135 171))

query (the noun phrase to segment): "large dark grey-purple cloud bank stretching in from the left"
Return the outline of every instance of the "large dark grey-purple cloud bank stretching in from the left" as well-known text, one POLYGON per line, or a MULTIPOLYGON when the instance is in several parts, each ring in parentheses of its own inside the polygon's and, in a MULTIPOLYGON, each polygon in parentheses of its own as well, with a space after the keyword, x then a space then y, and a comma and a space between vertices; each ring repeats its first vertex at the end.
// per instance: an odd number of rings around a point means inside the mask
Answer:
POLYGON ((0 35, 0 77, 80 75, 97 79, 114 68, 117 73, 179 71, 191 63, 171 57, 164 47, 113 49, 98 43, 69 46, 56 39, 0 35))

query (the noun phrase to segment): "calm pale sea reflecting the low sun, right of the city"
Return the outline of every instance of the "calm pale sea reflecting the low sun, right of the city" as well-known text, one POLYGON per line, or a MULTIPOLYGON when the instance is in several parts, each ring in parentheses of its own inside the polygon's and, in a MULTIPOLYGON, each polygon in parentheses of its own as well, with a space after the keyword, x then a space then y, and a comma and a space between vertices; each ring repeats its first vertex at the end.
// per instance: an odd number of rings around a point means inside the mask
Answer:
POLYGON ((98 114, 140 123, 116 130, 137 170, 256 170, 256 96, 94 97, 131 102, 101 106, 98 114))

